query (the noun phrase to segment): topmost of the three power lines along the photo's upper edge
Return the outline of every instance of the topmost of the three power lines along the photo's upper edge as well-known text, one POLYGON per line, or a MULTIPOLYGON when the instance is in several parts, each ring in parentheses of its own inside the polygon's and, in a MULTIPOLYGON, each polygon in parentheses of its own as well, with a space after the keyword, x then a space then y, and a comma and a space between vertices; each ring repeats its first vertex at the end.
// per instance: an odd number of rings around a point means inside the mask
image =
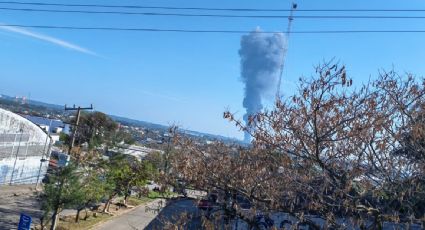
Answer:
MULTIPOLYGON (((209 7, 172 7, 144 5, 104 5, 104 4, 65 4, 45 2, 0 1, 0 4, 61 6, 61 7, 98 7, 98 8, 129 8, 129 9, 164 9, 164 10, 202 10, 202 11, 253 11, 253 12, 290 12, 289 9, 266 8, 209 8, 209 7)), ((298 9, 301 12, 425 12, 425 9, 298 9)))

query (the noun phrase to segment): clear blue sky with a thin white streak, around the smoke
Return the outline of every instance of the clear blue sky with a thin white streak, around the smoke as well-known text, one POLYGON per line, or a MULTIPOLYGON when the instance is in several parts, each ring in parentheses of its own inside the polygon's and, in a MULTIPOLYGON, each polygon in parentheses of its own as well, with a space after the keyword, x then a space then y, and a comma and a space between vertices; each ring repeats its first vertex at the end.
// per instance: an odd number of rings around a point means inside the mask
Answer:
MULTIPOLYGON (((72 3, 216 8, 290 7, 290 1, 280 0, 91 0, 72 3)), ((300 9, 425 9, 425 2, 311 0, 298 1, 298 6, 300 9)), ((247 31, 257 26, 266 31, 282 31, 287 26, 285 19, 10 11, 1 11, 0 23, 247 31)), ((296 19, 293 24, 294 31, 351 29, 425 30, 425 19, 296 19)), ((97 110, 110 114, 166 125, 176 123, 188 129, 241 138, 243 134, 222 118, 226 109, 235 112, 238 117, 244 114, 238 56, 240 37, 238 34, 0 29, 0 93, 12 96, 31 94, 32 99, 56 104, 84 106, 93 103, 97 110)), ((331 58, 346 64, 348 73, 358 83, 375 77, 380 69, 393 66, 400 72, 421 75, 425 72, 424 39, 425 34, 419 33, 294 34, 289 41, 281 90, 284 95, 291 94, 294 82, 300 76, 310 76, 316 64, 331 58)), ((271 100, 266 101, 266 104, 271 100)))

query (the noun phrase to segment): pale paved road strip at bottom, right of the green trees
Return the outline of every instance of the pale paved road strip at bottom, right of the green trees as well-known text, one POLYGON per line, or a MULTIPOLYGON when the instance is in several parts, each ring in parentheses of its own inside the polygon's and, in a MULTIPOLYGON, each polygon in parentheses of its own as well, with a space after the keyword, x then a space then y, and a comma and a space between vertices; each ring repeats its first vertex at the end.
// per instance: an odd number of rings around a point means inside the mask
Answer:
POLYGON ((147 205, 142 205, 131 210, 128 213, 115 217, 99 226, 96 230, 100 229, 114 229, 114 230, 135 230, 144 229, 156 216, 157 211, 161 205, 165 204, 164 200, 156 200, 147 205))

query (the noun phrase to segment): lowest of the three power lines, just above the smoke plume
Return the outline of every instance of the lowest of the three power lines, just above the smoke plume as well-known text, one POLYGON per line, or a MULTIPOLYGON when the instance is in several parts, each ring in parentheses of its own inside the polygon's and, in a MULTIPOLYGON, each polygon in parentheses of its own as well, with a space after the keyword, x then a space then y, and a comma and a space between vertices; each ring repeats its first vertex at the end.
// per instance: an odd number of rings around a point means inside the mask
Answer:
MULTIPOLYGON (((124 28, 124 27, 78 27, 78 26, 49 26, 49 25, 22 25, 22 24, 2 24, 0 25, 0 28, 1 27, 63 29, 63 30, 222 33, 222 34, 247 34, 252 32, 252 31, 246 31, 246 30, 191 30, 191 29, 124 28)), ((261 33, 283 33, 283 32, 261 31, 261 33)), ((291 34, 361 34, 361 33, 425 33, 425 30, 299 30, 299 31, 291 31, 291 34)))

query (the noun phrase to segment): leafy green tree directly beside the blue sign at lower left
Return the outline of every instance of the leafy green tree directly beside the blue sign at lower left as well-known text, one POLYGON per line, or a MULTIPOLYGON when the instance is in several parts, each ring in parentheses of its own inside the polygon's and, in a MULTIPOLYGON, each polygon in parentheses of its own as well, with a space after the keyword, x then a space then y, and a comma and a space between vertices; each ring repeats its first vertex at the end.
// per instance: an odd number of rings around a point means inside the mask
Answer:
POLYGON ((76 202, 84 196, 79 174, 77 168, 70 164, 58 168, 57 172, 50 176, 49 182, 45 184, 42 209, 45 217, 51 215, 51 230, 56 229, 60 212, 65 208, 73 208, 76 202))

